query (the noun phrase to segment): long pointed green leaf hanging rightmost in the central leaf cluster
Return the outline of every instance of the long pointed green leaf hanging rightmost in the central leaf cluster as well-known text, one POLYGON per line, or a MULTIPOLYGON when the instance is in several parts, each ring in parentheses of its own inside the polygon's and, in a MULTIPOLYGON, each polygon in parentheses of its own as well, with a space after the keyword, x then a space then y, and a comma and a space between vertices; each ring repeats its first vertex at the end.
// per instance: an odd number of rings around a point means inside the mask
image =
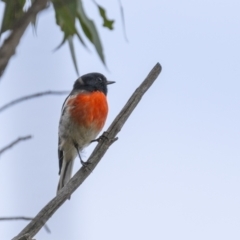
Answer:
POLYGON ((95 27, 94 22, 87 17, 83 9, 81 0, 77 0, 77 17, 79 19, 83 32, 85 33, 89 41, 94 45, 100 59, 105 64, 103 48, 102 48, 102 44, 101 44, 97 29, 95 27))

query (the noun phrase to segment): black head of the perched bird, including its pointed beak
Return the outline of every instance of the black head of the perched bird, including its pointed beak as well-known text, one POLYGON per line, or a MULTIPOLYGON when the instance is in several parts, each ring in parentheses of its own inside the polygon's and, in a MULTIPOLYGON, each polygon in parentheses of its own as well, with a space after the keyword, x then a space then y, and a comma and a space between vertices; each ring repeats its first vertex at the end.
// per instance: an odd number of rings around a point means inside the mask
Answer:
POLYGON ((112 83, 115 82, 108 81, 101 73, 88 73, 75 81, 73 90, 101 91, 107 95, 107 85, 112 83))

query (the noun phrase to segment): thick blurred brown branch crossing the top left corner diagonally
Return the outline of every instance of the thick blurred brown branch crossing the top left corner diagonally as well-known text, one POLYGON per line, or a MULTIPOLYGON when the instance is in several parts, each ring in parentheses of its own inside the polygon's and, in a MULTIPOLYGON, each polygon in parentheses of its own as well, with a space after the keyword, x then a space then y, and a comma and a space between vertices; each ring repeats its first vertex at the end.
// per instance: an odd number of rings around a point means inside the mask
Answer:
POLYGON ((48 0, 35 0, 28 11, 15 24, 9 37, 4 41, 0 48, 0 77, 8 64, 9 59, 15 53, 15 49, 25 32, 29 23, 37 16, 37 14, 47 7, 48 0))

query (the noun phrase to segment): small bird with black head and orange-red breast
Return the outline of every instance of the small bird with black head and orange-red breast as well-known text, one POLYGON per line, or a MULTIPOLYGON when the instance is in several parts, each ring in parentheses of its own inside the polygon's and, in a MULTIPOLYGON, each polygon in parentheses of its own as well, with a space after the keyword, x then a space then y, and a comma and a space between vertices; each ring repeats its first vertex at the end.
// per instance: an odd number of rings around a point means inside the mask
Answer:
POLYGON ((72 175, 74 159, 95 140, 108 114, 108 81, 101 73, 89 73, 78 78, 63 103, 58 130, 59 183, 57 193, 72 175))

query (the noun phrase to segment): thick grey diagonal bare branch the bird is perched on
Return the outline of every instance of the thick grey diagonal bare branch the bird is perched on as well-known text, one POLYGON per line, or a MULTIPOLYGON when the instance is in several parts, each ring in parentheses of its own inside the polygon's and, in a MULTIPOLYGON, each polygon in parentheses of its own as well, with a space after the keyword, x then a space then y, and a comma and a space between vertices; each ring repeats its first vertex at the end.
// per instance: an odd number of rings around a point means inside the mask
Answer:
POLYGON ((67 183, 59 194, 53 198, 36 217, 16 236, 13 240, 19 240, 23 235, 29 234, 32 238, 43 226, 44 223, 58 210, 58 208, 69 198, 69 196, 83 183, 90 173, 97 166, 109 146, 112 144, 116 135, 127 121, 128 117, 135 109, 144 93, 149 89, 161 72, 161 65, 157 63, 148 74, 143 83, 135 90, 131 98, 128 100, 122 111, 115 118, 107 132, 104 133, 101 141, 97 144, 93 153, 88 159, 91 163, 87 167, 81 167, 73 178, 67 183))

